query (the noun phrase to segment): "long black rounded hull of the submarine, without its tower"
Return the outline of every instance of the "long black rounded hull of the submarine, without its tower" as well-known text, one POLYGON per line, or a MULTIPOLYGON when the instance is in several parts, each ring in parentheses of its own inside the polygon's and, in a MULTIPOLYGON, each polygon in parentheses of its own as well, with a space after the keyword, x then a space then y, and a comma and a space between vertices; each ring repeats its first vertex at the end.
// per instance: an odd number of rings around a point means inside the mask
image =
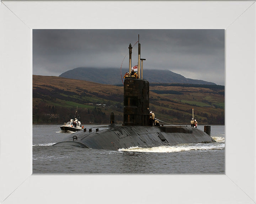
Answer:
POLYGON ((188 126, 113 126, 99 131, 75 132, 55 145, 118 150, 209 142, 215 141, 202 130, 188 126))

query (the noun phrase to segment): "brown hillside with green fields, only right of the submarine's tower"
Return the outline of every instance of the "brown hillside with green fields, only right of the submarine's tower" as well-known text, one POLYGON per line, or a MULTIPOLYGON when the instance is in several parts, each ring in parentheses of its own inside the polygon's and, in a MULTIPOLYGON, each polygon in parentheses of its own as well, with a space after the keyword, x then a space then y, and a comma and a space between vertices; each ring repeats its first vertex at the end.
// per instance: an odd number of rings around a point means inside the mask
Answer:
MULTIPOLYGON (((224 125, 225 96, 223 89, 184 86, 150 86, 150 107, 159 118, 172 124, 188 123, 194 118, 200 124, 224 125), (156 94, 158 93, 158 94, 156 94)), ((157 116, 156 116, 157 118, 157 116)))

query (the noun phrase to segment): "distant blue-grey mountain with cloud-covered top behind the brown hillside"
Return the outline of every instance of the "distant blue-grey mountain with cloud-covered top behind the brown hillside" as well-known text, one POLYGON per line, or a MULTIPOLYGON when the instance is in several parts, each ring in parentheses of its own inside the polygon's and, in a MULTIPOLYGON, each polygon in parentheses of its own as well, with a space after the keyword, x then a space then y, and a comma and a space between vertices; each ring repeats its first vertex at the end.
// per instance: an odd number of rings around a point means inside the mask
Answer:
MULTIPOLYGON (((128 69, 129 70, 129 69, 128 69)), ((122 75, 128 70, 122 69, 122 75)), ((79 67, 66 71, 59 77, 93 81, 100 84, 122 84, 120 68, 85 68, 79 67)), ((185 84, 212 84, 212 82, 188 79, 170 70, 143 70, 143 79, 149 83, 185 83, 185 84)))

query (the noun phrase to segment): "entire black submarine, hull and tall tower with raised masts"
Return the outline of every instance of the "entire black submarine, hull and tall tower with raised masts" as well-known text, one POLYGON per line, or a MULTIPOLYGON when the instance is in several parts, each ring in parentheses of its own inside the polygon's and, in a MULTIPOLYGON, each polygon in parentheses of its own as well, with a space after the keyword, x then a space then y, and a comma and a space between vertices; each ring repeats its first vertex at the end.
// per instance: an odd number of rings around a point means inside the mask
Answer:
MULTIPOLYGON (((129 147, 175 146, 185 143, 215 142, 210 134, 190 126, 151 126, 149 122, 149 82, 142 78, 143 60, 138 43, 138 75, 131 69, 132 46, 129 45, 129 73, 124 76, 123 125, 118 126, 111 113, 111 124, 95 130, 78 131, 62 142, 61 146, 118 150, 129 147), (140 62, 142 67, 140 67, 140 62)), ((208 126, 207 131, 209 131, 208 126)), ((206 131, 206 126, 205 126, 206 131)))

